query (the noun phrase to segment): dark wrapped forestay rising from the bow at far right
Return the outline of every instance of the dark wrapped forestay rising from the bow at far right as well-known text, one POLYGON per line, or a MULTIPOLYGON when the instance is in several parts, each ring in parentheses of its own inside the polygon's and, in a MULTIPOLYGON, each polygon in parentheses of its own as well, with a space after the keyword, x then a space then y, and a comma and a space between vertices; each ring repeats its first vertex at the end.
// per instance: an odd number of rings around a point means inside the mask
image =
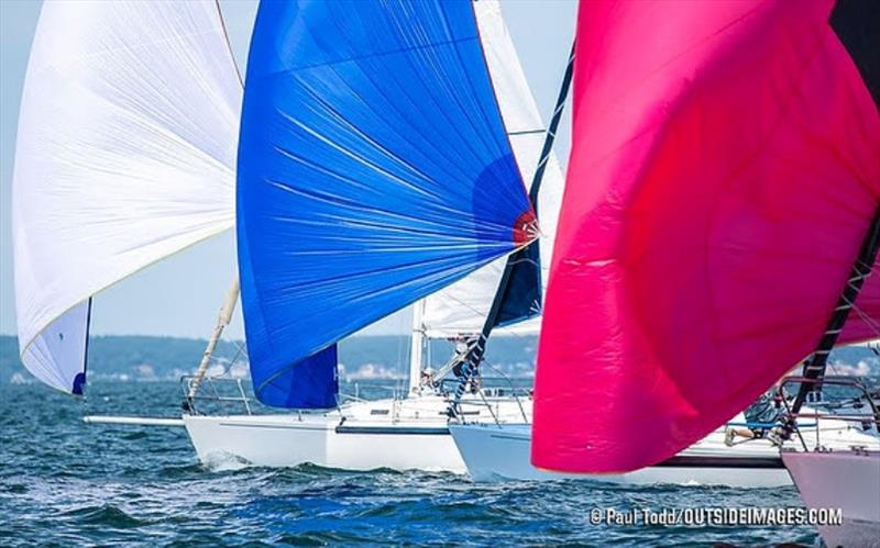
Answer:
MULTIPOLYGON (((803 376, 805 378, 821 381, 825 376, 825 367, 828 362, 828 354, 831 354, 835 343, 837 342, 837 337, 844 329, 844 324, 846 324, 846 320, 849 317, 849 311, 856 305, 856 299, 858 299, 859 291, 865 284, 865 280, 871 275, 873 261, 877 258, 879 246, 880 208, 878 208, 877 212, 875 212, 873 220, 868 227, 868 233, 865 235, 865 239, 861 243, 861 249, 859 250, 858 258, 853 265, 853 270, 850 270, 846 286, 840 293, 840 298, 837 300, 837 305, 834 309, 834 313, 828 320, 828 324, 825 327, 825 333, 822 335, 816 350, 813 353, 806 364, 804 364, 803 376)), ((821 382, 801 383, 801 387, 798 389, 798 395, 792 404, 792 416, 801 411, 801 406, 806 401, 806 396, 810 394, 810 392, 813 392, 820 387, 821 382)), ((787 434, 792 432, 792 428, 794 427, 793 421, 794 420, 790 416, 788 423, 784 425, 787 434)))

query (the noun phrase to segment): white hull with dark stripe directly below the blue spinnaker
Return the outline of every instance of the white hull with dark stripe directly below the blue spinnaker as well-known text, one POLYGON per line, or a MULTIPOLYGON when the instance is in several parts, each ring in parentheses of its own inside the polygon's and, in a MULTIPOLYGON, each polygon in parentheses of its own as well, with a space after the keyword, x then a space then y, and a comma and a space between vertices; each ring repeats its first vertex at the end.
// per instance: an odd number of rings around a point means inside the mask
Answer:
MULTIPOLYGON (((492 403, 496 415, 521 416, 516 400, 492 403)), ((209 467, 312 463, 345 470, 464 473, 446 409, 444 399, 429 395, 354 403, 327 413, 184 415, 183 420, 199 460, 209 467)), ((485 406, 468 409, 471 418, 492 420, 485 406)))

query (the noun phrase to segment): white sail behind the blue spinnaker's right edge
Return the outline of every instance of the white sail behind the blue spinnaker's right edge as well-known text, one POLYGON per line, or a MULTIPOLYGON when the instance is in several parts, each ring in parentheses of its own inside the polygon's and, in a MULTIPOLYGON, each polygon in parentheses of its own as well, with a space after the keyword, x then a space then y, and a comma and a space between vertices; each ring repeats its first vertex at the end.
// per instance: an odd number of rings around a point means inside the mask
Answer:
MULTIPOLYGON (((531 96, 516 48, 507 32, 497 0, 473 3, 495 96, 526 184, 532 176, 544 142, 544 124, 531 96)), ((541 282, 546 286, 564 178, 556 154, 551 153, 538 195, 538 220, 541 226, 541 282)), ((453 337, 480 333, 492 300, 498 289, 507 258, 497 259, 472 275, 426 299, 422 325, 429 337, 453 337)), ((536 305, 540 305, 536 303, 536 305)), ((493 331, 504 334, 537 334, 540 316, 493 331)))

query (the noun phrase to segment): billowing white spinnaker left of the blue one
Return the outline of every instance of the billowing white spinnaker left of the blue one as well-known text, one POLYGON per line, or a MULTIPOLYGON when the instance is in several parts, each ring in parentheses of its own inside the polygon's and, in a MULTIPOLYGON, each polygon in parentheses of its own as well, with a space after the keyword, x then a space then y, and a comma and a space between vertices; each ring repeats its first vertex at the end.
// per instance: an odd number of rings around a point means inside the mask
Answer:
POLYGON ((22 361, 70 392, 88 299, 230 228, 241 83, 213 0, 52 1, 12 182, 22 361))

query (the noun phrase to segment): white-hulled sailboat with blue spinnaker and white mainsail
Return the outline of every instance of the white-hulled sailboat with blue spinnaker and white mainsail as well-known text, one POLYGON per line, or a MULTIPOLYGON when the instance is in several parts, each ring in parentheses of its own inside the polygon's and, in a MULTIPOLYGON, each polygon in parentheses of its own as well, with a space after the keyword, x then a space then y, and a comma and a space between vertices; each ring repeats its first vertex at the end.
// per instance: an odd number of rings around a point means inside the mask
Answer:
MULTIPOLYGON (((461 355, 430 374, 424 371, 424 350, 430 337, 468 335, 473 318, 491 302, 502 272, 504 258, 495 257, 504 253, 504 246, 490 257, 484 255, 486 243, 480 239, 498 228, 509 238, 510 228, 492 222, 475 226, 469 235, 473 221, 466 221, 468 214, 480 213, 490 200, 504 205, 508 194, 524 189, 518 176, 509 179, 512 171, 496 171, 503 167, 497 159, 482 167, 469 163, 483 154, 481 147, 492 144, 509 146, 516 164, 505 170, 516 167, 530 174, 542 165, 551 190, 542 194, 541 208, 547 212, 542 220, 554 217, 562 181, 552 154, 541 155, 547 131, 499 4, 352 3, 343 10, 324 3, 298 12, 282 4, 262 4, 248 81, 240 154, 253 153, 250 166, 255 169, 243 169, 246 156, 240 158, 238 228, 240 258, 248 257, 241 265, 253 269, 242 268, 242 289, 254 389, 271 405, 321 411, 185 415, 199 457, 206 462, 233 457, 261 466, 311 462, 358 470, 463 472, 447 427, 448 394, 439 385, 461 355), (441 21, 446 23, 438 26, 441 21), (371 35, 361 32, 364 22, 370 22, 371 35), (290 35, 288 29, 297 25, 307 32, 290 35), (312 41, 329 29, 342 29, 344 40, 312 41), (461 51, 450 51, 450 32, 465 36, 453 48, 461 51), (275 59, 274 52, 292 56, 275 59), (276 78, 279 64, 289 71, 288 78, 276 78), (429 68, 438 66, 440 70, 429 68), (402 86, 407 81, 411 83, 402 86), (492 97, 485 96, 490 82, 492 97), (462 94, 469 88, 473 96, 462 94), (487 97, 497 107, 479 103, 487 97), (283 99, 273 103, 267 98, 283 99), (433 118, 422 112, 419 102, 437 109, 433 118), (453 108, 444 112, 443 105, 453 108), (308 110, 314 113, 294 120, 295 113, 308 110), (503 128, 494 130, 494 144, 476 131, 481 120, 493 113, 504 121, 503 128), (413 123, 414 116, 424 120, 413 123), (249 130, 250 120, 254 120, 253 130, 249 130), (285 132, 282 137, 265 132, 273 124, 279 124, 278 133, 285 132), (437 133, 437 127, 447 130, 437 133), (498 130, 504 133, 497 134, 498 130), (385 143, 374 141, 380 137, 385 143), (468 144, 455 152, 461 138, 468 144), (297 149, 308 150, 309 156, 297 149), (473 187, 457 188, 460 171, 469 169, 468 184, 473 187), (301 186, 300 180, 309 184, 301 186), (284 186, 262 181, 284 181, 284 186), (508 186, 498 186, 502 181, 508 186), (279 214, 279 204, 288 213, 279 214), (288 255, 297 260, 287 266, 272 264, 288 255), (371 257, 375 262, 371 264, 371 257), (450 281, 459 278, 462 260, 481 268, 446 284, 441 276, 450 281), (443 273, 447 269, 449 273, 443 273), (327 411, 337 390, 330 374, 336 347, 322 345, 336 344, 419 294, 425 298, 414 306, 407 396, 327 411), (275 310, 267 310, 266 303, 275 310), (297 321, 301 327, 296 327, 297 321), (308 342, 309 325, 321 325, 322 331, 314 333, 320 339, 308 342), (267 348, 284 353, 261 354, 267 348)), ((522 206, 521 202, 517 205, 522 206)), ((530 210, 528 202, 525 206, 530 210)), ((521 223, 521 215, 520 211, 514 216, 514 223, 521 223)), ((534 236, 528 234, 532 214, 525 215, 525 224, 514 230, 515 244, 517 238, 534 236)), ((536 315, 527 304, 512 323, 536 315)), ((522 332, 534 325, 532 321, 517 328, 522 332)), ((528 398, 477 390, 465 396, 464 406, 476 420, 510 420, 530 411, 530 402, 524 402, 528 398)))

